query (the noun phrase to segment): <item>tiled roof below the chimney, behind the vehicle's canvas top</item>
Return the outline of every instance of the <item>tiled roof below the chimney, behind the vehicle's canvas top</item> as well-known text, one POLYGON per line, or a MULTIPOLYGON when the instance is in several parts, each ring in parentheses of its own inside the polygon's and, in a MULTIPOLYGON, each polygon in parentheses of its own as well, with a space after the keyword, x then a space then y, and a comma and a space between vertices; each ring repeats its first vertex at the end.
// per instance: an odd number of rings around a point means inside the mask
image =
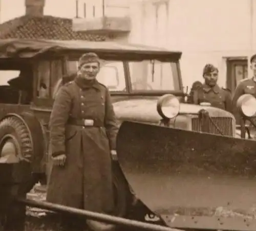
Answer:
POLYGON ((24 15, 0 25, 0 39, 7 38, 103 41, 106 36, 74 32, 70 18, 24 15))

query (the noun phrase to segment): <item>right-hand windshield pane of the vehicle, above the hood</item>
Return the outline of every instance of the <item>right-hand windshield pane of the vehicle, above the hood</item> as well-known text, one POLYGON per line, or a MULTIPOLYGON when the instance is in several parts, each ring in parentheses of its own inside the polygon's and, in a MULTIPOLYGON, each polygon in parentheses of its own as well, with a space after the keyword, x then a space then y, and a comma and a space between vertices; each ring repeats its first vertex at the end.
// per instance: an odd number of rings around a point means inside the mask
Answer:
POLYGON ((133 90, 180 90, 178 66, 158 60, 130 61, 133 90))

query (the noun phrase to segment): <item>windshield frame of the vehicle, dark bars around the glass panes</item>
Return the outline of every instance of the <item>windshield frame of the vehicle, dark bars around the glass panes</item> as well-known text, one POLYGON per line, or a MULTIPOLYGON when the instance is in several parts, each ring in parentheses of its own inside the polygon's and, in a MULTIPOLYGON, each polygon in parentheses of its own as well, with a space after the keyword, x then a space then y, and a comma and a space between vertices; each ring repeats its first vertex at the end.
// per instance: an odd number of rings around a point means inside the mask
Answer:
MULTIPOLYGON (((183 84, 182 84, 182 78, 181 78, 181 71, 180 71, 180 62, 179 60, 174 60, 173 58, 162 58, 160 59, 159 57, 140 57, 138 55, 138 58, 118 58, 118 57, 100 57, 101 59, 104 60, 110 60, 110 61, 120 61, 123 62, 123 69, 124 69, 124 78, 125 78, 125 84, 126 84, 126 89, 123 91, 115 91, 111 90, 110 93, 111 95, 133 95, 133 96, 159 96, 159 95, 164 95, 164 94, 173 94, 175 96, 184 96, 184 89, 183 89, 183 84), (156 59, 160 62, 173 62, 176 63, 177 66, 177 77, 178 77, 178 84, 179 88, 178 90, 133 90, 132 88, 132 79, 131 79, 131 74, 130 74, 130 61, 143 61, 143 60, 153 60, 156 59)), ((70 56, 67 61, 78 61, 79 57, 74 57, 70 56)))

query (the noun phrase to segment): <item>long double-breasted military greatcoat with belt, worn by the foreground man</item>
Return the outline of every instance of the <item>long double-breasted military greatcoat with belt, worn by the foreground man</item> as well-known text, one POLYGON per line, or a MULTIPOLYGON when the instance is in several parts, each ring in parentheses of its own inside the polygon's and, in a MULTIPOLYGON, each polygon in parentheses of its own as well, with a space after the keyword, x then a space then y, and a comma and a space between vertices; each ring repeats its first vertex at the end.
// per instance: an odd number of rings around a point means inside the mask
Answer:
POLYGON ((47 201, 94 212, 113 210, 110 150, 116 148, 116 117, 109 90, 81 78, 63 85, 50 117, 52 156, 65 153, 65 166, 53 166, 47 201), (82 126, 91 119, 93 126, 82 126), (80 122, 79 122, 80 121, 80 122))

